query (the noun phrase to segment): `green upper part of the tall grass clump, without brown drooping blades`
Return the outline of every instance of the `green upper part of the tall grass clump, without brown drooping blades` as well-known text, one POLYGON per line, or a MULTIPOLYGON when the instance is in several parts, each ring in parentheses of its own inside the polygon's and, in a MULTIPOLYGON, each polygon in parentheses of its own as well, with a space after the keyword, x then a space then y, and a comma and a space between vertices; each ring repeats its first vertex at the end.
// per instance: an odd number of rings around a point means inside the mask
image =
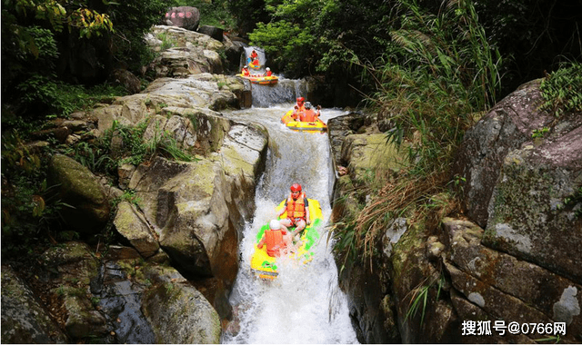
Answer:
POLYGON ((402 1, 398 12, 406 20, 390 33, 386 62, 368 67, 378 84, 370 101, 380 118, 395 123, 389 135, 396 143, 420 133, 421 143, 410 153, 416 170, 447 170, 472 113, 495 102, 501 57, 468 1, 439 15, 402 1))

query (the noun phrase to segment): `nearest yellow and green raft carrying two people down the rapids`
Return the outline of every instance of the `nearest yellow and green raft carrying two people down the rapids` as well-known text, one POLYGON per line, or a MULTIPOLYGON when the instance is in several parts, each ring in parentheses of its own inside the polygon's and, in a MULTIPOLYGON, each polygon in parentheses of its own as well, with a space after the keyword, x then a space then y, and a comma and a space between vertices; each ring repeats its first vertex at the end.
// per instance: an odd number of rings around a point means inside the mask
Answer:
MULTIPOLYGON (((306 230, 301 234, 301 246, 296 253, 289 254, 291 258, 295 260, 306 263, 313 260, 314 252, 311 251, 313 245, 319 239, 318 228, 323 222, 323 217, 321 214, 321 207, 319 202, 314 199, 307 199, 309 202, 309 219, 310 224, 306 226, 306 230)), ((281 202, 277 207, 277 212, 285 207, 285 200, 281 202)), ((281 219, 286 218, 286 212, 281 215, 281 219)), ((258 242, 263 238, 263 234, 268 229, 269 225, 263 225, 259 232, 256 234, 255 241, 255 251, 251 257, 251 271, 256 275, 256 277, 265 280, 274 280, 279 274, 276 266, 276 258, 268 256, 266 253, 266 245, 261 249, 256 247, 258 242)))

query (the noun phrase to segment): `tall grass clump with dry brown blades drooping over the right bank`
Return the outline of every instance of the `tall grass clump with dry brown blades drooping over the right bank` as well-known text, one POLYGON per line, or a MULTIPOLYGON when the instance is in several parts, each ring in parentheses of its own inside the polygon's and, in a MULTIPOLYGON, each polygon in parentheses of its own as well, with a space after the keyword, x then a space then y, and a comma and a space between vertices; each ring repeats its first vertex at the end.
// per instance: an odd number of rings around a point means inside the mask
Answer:
POLYGON ((370 259, 394 218, 438 222, 435 213, 451 211, 454 198, 441 197, 447 204, 436 205, 435 195, 447 192, 463 134, 494 104, 500 86, 500 55, 470 1, 449 0, 433 14, 415 0, 401 0, 392 18, 383 57, 356 64, 376 84, 367 102, 378 121, 390 123, 386 140, 406 150, 408 166, 397 178, 375 183, 384 185, 370 191, 376 199, 366 202, 349 226, 336 229, 339 237, 346 229, 354 232, 349 234, 354 245, 370 259))

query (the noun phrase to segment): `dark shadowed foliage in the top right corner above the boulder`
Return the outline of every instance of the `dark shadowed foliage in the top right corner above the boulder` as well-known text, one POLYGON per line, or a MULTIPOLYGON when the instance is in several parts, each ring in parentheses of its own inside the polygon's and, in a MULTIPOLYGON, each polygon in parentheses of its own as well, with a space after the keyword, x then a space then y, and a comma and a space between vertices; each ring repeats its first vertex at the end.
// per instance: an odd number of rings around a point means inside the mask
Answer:
POLYGON ((501 94, 582 58, 582 2, 483 0, 475 3, 487 37, 506 58, 501 94))

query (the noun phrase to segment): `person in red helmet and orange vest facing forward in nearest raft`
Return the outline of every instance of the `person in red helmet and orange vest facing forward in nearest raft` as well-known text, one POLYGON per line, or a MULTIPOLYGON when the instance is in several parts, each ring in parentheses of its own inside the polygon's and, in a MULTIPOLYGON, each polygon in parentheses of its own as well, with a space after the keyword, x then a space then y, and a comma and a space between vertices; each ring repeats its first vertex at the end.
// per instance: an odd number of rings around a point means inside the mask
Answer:
POLYGON ((287 212, 287 218, 281 220, 281 224, 290 228, 295 226, 295 232, 291 232, 291 237, 299 235, 309 225, 309 202, 307 201, 306 193, 302 192, 301 184, 293 183, 290 188, 289 196, 286 199, 285 207, 278 212, 277 216, 281 216, 287 212))

